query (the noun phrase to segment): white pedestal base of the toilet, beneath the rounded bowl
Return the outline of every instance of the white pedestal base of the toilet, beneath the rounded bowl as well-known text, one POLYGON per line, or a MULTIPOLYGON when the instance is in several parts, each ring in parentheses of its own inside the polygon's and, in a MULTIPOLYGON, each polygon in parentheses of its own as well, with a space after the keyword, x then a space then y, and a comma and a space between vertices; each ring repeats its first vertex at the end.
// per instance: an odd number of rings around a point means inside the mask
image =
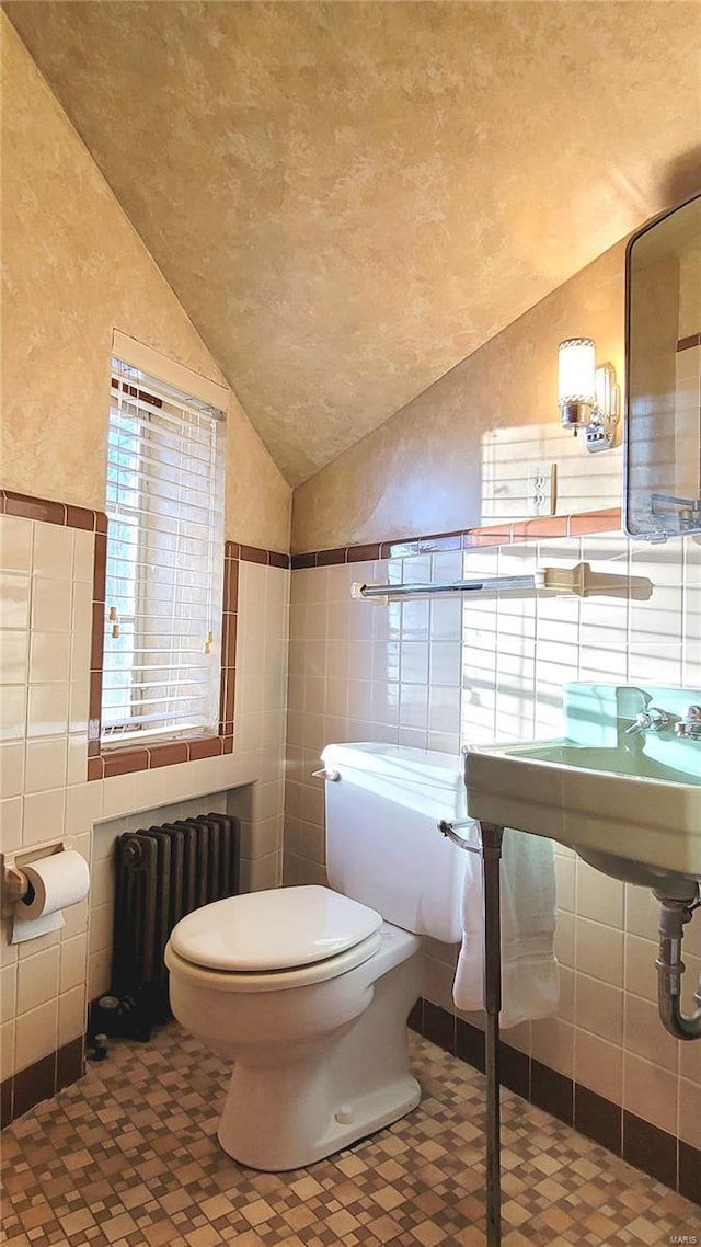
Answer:
POLYGON ((233 1160, 266 1172, 302 1168, 419 1104, 407 1018, 420 993, 420 940, 389 924, 383 932, 359 1016, 282 1066, 236 1062, 217 1132, 233 1160))

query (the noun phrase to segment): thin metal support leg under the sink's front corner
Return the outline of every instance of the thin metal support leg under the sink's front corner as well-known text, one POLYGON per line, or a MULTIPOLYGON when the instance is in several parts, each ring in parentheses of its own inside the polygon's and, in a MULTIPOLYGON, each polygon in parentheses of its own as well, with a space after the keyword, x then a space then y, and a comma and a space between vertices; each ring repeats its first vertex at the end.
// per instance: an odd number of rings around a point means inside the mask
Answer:
POLYGON ((501 1242, 501 1142, 499 1095, 499 1010, 501 1008, 501 923, 499 863, 503 827, 480 823, 484 879, 484 1009, 486 1013, 486 1245, 501 1242))

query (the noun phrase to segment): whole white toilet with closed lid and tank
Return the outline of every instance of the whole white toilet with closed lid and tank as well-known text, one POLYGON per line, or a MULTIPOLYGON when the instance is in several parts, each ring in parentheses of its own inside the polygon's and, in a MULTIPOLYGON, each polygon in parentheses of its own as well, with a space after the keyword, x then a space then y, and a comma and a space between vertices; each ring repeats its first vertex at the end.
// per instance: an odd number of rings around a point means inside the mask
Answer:
POLYGON ((322 758, 331 887, 205 905, 165 954, 173 1015, 233 1062, 220 1142, 269 1172, 331 1156, 418 1105, 407 1018, 420 936, 462 935, 468 854, 437 828, 465 814, 459 758, 375 743, 329 744, 322 758))

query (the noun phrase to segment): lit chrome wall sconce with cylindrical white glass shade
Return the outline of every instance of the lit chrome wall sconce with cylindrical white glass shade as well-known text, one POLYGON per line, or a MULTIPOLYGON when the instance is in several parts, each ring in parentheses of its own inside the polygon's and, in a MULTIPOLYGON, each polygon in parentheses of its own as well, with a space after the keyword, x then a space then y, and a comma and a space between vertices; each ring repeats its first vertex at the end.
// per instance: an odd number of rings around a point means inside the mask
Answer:
POLYGON ((619 387, 612 364, 596 368, 592 338, 566 338, 558 357, 558 405, 564 429, 584 430, 590 453, 610 450, 619 423, 619 387))

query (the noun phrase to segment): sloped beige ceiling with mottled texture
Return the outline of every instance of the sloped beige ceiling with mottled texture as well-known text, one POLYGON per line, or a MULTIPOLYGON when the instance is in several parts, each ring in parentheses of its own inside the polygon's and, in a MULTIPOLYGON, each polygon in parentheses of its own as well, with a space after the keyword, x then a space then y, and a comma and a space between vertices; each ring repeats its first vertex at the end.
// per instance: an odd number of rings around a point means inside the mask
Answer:
POLYGON ((293 484, 701 183, 696 0, 5 9, 293 484))

